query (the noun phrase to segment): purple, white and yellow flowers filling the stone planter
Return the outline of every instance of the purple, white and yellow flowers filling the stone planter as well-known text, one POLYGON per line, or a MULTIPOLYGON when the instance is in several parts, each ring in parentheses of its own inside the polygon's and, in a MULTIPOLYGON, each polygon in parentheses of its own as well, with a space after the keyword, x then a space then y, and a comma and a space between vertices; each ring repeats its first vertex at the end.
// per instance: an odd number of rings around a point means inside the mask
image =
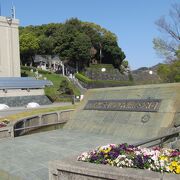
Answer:
POLYGON ((78 156, 79 161, 180 174, 180 151, 167 148, 142 148, 128 144, 108 144, 78 156))

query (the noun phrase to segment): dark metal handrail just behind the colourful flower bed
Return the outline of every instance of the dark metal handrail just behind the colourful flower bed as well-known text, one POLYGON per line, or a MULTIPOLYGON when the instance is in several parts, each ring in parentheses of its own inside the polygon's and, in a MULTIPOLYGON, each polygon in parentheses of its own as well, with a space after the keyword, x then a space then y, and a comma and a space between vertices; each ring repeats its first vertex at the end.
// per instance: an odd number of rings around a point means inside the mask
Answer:
POLYGON ((166 134, 166 135, 163 135, 163 136, 159 136, 159 137, 155 137, 155 138, 152 138, 152 139, 148 139, 148 140, 145 140, 145 141, 142 141, 142 142, 139 142, 139 143, 135 143, 133 144, 134 146, 142 146, 142 145, 145 145, 145 144, 149 144, 151 142, 154 142, 154 141, 157 141, 157 140, 160 140, 159 143, 156 143, 154 145, 150 145, 150 146, 147 146, 147 147, 152 147, 152 146, 155 146, 155 145, 160 145, 162 146, 162 143, 163 143, 163 140, 164 138, 168 138, 168 137, 171 137, 171 136, 179 136, 179 133, 180 133, 180 129, 172 132, 172 133, 169 133, 169 134, 166 134))

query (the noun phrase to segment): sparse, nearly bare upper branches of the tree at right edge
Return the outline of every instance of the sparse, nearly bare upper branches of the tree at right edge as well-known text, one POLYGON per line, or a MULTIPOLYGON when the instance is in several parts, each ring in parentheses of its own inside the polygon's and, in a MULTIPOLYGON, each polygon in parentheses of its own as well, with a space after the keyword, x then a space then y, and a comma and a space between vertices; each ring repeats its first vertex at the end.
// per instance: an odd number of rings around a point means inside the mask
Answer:
POLYGON ((154 49, 166 60, 172 61, 180 49, 180 4, 173 4, 168 18, 161 17, 156 25, 165 36, 154 38, 154 49))

